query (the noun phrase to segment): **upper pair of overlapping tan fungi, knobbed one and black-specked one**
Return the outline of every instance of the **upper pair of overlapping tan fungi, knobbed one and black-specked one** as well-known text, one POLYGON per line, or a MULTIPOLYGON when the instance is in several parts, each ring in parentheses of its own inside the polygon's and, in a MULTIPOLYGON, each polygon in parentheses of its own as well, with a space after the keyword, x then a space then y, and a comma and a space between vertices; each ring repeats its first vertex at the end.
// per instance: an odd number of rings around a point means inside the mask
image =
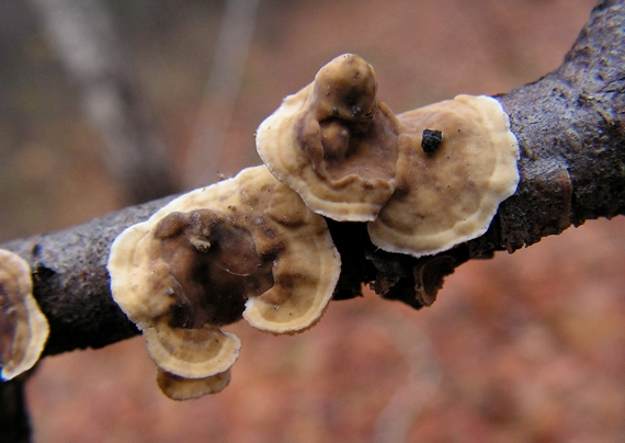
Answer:
POLYGON ((367 222, 388 252, 429 255, 481 236, 519 183, 519 144, 489 96, 395 115, 373 68, 337 57, 257 132, 259 155, 315 212, 367 222))

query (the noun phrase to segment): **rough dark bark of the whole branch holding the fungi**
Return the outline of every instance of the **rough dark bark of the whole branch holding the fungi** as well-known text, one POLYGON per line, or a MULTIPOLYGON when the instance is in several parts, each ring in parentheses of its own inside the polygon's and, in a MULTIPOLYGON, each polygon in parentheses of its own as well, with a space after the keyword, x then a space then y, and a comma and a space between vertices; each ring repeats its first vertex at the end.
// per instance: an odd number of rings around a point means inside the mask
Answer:
MULTIPOLYGON (((514 251, 586 219, 625 214, 625 4, 602 1, 562 66, 497 99, 521 145, 521 183, 480 238, 434 257, 376 250, 364 225, 330 223, 343 271, 334 298, 370 283, 385 298, 430 305, 443 277, 469 259, 514 251)), ((33 268, 50 322, 46 354, 100 348, 138 333, 113 303, 105 264, 113 239, 168 198, 64 231, 14 240, 33 268)))

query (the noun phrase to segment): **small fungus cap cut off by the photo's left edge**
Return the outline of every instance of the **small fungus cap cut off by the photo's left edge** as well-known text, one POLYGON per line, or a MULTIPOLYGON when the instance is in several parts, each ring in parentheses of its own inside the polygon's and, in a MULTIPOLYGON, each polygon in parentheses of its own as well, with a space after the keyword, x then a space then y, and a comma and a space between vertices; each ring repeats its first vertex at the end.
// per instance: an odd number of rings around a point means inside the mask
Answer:
POLYGON ((33 297, 31 266, 0 249, 0 375, 11 379, 39 360, 49 334, 46 317, 33 297))

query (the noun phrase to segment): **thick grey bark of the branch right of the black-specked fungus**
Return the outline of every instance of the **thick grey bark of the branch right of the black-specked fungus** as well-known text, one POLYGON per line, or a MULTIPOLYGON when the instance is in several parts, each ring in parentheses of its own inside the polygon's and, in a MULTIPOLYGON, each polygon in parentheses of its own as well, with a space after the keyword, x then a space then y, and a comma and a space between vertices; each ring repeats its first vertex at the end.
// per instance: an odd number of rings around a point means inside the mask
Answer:
POLYGON ((625 209, 625 5, 603 1, 555 72, 498 98, 522 181, 500 208, 513 251, 625 209))

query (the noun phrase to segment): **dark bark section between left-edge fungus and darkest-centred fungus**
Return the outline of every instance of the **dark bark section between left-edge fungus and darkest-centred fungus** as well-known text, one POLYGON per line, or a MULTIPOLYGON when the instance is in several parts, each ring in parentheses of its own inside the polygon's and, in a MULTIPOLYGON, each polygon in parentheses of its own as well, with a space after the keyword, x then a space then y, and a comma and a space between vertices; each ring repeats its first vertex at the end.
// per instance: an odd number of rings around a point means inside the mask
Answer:
POLYGON ((138 333, 111 298, 109 251, 126 227, 145 220, 172 198, 2 245, 26 259, 33 270, 33 292, 50 323, 45 354, 102 348, 138 333))

